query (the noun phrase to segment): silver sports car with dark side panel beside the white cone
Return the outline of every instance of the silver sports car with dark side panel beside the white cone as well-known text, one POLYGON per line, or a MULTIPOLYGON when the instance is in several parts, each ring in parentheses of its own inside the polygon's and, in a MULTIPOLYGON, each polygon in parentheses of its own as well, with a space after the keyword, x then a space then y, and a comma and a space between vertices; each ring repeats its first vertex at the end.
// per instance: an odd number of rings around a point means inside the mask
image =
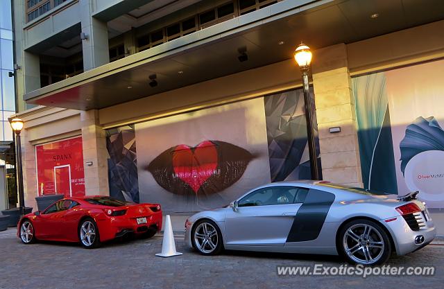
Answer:
POLYGON ((435 227, 418 192, 401 198, 319 181, 260 186, 228 207, 185 222, 185 241, 203 255, 222 249, 341 254, 384 263, 432 242, 435 227))

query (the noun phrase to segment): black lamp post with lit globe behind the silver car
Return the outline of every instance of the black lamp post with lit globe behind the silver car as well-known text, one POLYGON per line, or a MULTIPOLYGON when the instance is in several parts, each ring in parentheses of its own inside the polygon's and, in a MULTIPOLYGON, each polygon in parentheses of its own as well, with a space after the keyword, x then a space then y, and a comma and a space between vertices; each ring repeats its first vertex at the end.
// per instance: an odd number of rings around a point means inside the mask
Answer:
POLYGON ((319 179, 318 158, 316 155, 316 143, 313 121, 313 110, 311 110, 311 97, 309 91, 308 73, 311 63, 311 51, 309 46, 300 44, 294 52, 294 59, 298 62, 302 72, 302 83, 304 87, 305 119, 307 121, 307 139, 310 157, 311 179, 319 179))

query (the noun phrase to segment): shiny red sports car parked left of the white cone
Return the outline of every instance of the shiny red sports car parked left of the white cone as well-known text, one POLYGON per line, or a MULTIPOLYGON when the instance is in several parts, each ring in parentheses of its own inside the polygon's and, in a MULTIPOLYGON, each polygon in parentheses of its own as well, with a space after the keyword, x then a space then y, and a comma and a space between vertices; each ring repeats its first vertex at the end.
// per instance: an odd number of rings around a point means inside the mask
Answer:
POLYGON ((128 233, 155 235, 162 228, 160 204, 135 204, 101 195, 65 198, 43 212, 28 213, 17 225, 25 244, 35 240, 79 242, 85 248, 128 233))

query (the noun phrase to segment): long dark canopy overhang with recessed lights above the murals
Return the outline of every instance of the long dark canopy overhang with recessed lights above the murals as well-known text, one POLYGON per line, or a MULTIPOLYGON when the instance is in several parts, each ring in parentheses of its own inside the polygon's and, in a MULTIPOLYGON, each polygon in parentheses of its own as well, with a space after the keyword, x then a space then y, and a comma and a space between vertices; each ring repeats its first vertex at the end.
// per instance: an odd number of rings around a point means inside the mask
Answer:
POLYGON ((24 98, 37 105, 101 109, 287 60, 302 40, 319 49, 441 19, 442 0, 286 0, 31 91, 24 98), (294 8, 295 3, 301 6, 294 8), (370 17, 375 13, 379 16, 370 17), (246 49, 248 61, 239 62, 239 49, 246 49), (152 74, 157 75, 157 87, 148 85, 152 74))

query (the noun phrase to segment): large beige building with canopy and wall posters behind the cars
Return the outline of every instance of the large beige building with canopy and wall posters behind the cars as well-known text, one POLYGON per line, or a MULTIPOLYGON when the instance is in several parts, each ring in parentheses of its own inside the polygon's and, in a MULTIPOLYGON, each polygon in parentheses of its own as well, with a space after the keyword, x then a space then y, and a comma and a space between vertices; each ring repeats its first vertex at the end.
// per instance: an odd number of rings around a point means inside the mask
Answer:
POLYGON ((323 179, 418 190, 444 234, 444 5, 359 3, 15 1, 26 204, 102 194, 191 212, 309 178, 303 41, 323 179))

